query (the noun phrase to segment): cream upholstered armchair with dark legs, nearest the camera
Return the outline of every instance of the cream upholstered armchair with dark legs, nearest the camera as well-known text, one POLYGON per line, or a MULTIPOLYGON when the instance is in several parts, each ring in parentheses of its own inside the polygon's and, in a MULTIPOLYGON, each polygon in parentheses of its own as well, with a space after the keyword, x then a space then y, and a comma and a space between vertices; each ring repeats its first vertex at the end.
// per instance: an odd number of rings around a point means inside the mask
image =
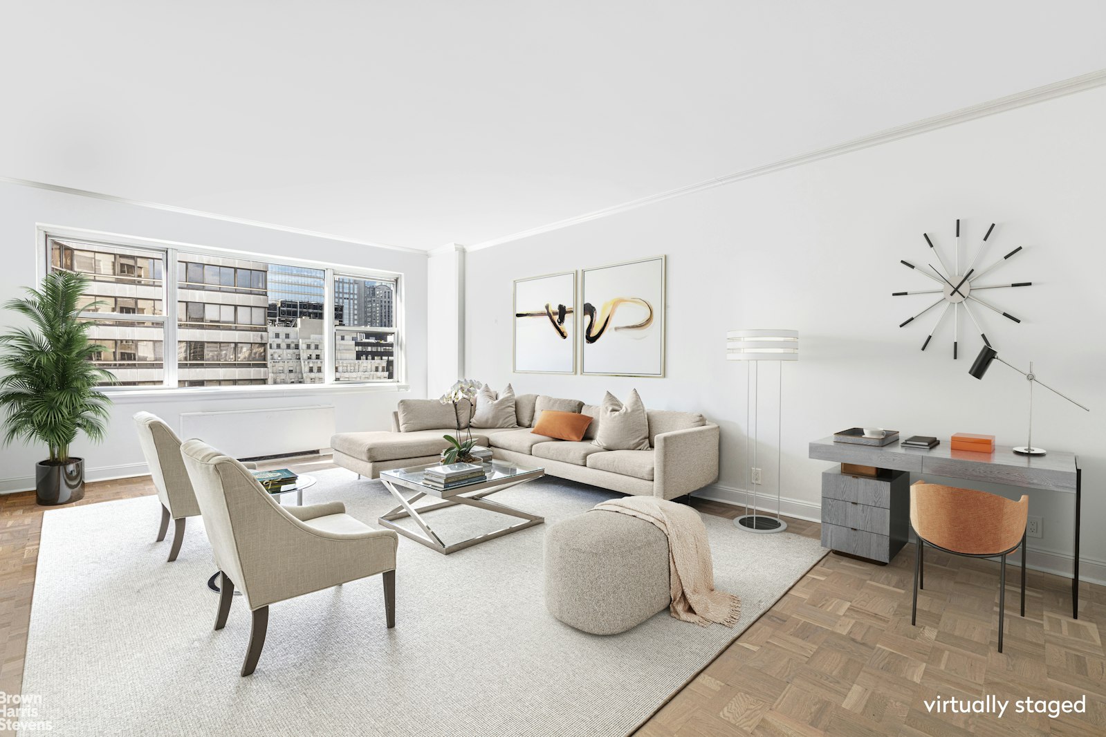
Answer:
POLYGON ((227 623, 236 586, 252 612, 242 675, 257 667, 269 604, 278 601, 383 573, 387 625, 395 627, 395 533, 357 522, 341 502, 283 507, 246 466, 210 445, 189 440, 180 450, 222 576, 215 629, 227 623))

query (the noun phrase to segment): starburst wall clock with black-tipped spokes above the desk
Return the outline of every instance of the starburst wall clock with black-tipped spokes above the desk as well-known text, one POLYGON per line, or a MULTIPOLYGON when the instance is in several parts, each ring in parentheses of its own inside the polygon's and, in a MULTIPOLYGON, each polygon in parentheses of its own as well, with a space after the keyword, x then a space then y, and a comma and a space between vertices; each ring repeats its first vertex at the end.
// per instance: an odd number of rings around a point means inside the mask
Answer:
MULTIPOLYGON (((937 298, 937 302, 929 305, 921 312, 902 320, 899 324, 899 327, 906 327, 907 325, 915 322, 922 315, 926 315, 927 313, 939 307, 940 305, 945 305, 943 308, 938 310, 939 314, 937 316, 937 320, 932 324, 932 327, 929 330, 929 335, 926 336, 926 341, 921 344, 922 350, 925 350, 929 346, 929 341, 932 340, 933 334, 937 333, 938 328, 941 327, 941 324, 945 322, 946 317, 948 317, 949 313, 952 313, 952 358, 953 359, 958 358, 959 354, 958 347, 960 343, 961 312, 963 312, 964 315, 968 316, 969 324, 971 325, 971 327, 975 328, 975 331, 979 334, 979 337, 983 340, 983 343, 990 346, 991 341, 988 339, 987 334, 983 331, 983 324, 980 322, 982 319, 983 310, 980 309, 979 310, 980 315, 977 315, 975 312, 972 310, 973 305, 978 305, 978 307, 990 310, 997 315, 1001 315, 1003 318, 1012 320, 1014 323, 1021 323, 1021 319, 1014 317, 1005 309, 1002 309, 991 304, 990 294, 988 294, 985 298, 980 294, 984 289, 1005 289, 1018 286, 1033 285, 1033 282, 1010 282, 1005 284, 980 283, 979 280, 981 280, 985 274, 990 273, 991 271, 1006 263, 1014 254, 1019 253, 1022 250, 1022 246, 1019 245, 1016 249, 1014 249, 1006 255, 1002 256, 1001 259, 998 259, 990 266, 977 271, 975 264, 979 263, 980 257, 989 250, 989 246, 991 245, 989 239, 991 238, 991 233, 993 231, 994 231, 994 223, 991 223, 991 227, 987 229, 987 234, 983 235, 983 240, 980 241, 979 248, 975 250, 975 255, 972 256, 971 262, 967 264, 966 269, 961 269, 959 220, 957 220, 956 245, 953 246, 952 251, 951 267, 948 263, 945 262, 945 259, 941 256, 941 252, 938 250, 937 245, 933 244, 933 241, 929 236, 929 233, 922 233, 921 235, 922 238, 926 239, 926 243, 929 245, 930 259, 936 260, 937 263, 940 265, 940 269, 938 269, 937 266, 935 266, 929 262, 926 262, 925 265, 922 265, 920 263, 914 264, 906 260, 901 261, 904 265, 909 266, 916 273, 921 274, 922 276, 929 278, 930 281, 937 282, 939 288, 919 289, 916 292, 893 292, 891 293, 893 297, 907 297, 907 296, 914 296, 916 294, 939 294, 941 296, 937 298)), ((963 254, 964 260, 967 260, 968 257, 967 249, 963 249, 963 251, 964 251, 963 254)))

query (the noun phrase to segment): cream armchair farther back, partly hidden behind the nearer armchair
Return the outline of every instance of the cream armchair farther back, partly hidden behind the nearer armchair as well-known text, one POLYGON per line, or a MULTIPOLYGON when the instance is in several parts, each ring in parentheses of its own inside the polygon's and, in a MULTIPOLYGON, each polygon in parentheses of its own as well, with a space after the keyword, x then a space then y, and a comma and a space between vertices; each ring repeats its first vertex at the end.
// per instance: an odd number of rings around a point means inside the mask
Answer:
MULTIPOLYGON (((149 412, 138 412, 134 421, 138 428, 142 453, 146 456, 146 466, 161 501, 158 543, 165 539, 165 534, 169 530, 169 519, 174 520, 173 547, 169 548, 169 562, 173 562, 180 552, 180 544, 185 541, 185 522, 188 517, 199 515, 200 507, 185 471, 185 462, 180 457, 180 439, 177 433, 161 418, 149 412)), ((246 466, 257 467, 253 463, 247 463, 246 466)))

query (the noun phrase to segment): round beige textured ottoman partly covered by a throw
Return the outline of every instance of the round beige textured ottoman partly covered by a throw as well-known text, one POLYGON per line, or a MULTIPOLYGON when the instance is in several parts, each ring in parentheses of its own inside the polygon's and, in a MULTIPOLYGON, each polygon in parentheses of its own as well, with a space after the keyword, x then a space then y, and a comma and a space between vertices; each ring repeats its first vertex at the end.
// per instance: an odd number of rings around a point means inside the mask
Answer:
POLYGON ((545 531, 545 608, 592 634, 637 627, 671 601, 668 538, 617 512, 587 512, 545 531))

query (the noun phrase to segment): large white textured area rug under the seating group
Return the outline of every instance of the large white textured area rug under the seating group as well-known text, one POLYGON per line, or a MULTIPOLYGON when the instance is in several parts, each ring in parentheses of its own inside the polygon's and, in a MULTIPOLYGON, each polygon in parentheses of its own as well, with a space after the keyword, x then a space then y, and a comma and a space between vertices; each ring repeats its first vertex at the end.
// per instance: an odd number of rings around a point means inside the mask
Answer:
MULTIPOLYGON (((305 504, 342 501, 374 526, 394 506, 379 482, 344 470, 316 476, 305 504)), ((545 611, 542 541, 547 525, 612 496, 540 480, 490 498, 545 525, 451 556, 400 537, 395 629, 385 628, 379 577, 276 603, 246 678, 249 612, 236 599, 226 629, 211 629, 213 562, 198 517, 167 564, 169 539, 154 543, 154 496, 51 510, 23 692, 42 696, 51 734, 81 737, 626 735, 825 551, 705 515, 717 586, 741 597, 740 624, 700 628, 665 611, 620 635, 585 634, 545 611)), ((483 514, 453 507, 428 518, 448 544, 455 524, 466 536, 478 524, 501 526, 483 514)))

